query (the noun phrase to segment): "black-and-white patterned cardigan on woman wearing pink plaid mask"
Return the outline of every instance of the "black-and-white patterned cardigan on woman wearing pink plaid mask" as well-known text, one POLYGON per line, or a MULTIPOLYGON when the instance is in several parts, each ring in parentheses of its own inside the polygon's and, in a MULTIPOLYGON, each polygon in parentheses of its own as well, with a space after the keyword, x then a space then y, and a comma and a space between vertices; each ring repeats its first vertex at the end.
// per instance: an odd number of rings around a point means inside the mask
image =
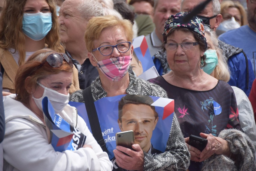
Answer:
MULTIPOLYGON (((167 98, 166 91, 160 86, 148 81, 139 79, 129 74, 130 83, 126 89, 131 95, 150 95, 167 98)), ((107 92, 102 88, 100 78, 97 77, 91 84, 94 101, 107 96, 107 92)), ((82 90, 74 92, 69 101, 84 103, 82 90)), ((167 141, 164 153, 152 155, 144 152, 144 170, 187 170, 190 162, 190 153, 181 133, 177 116, 174 114, 172 128, 167 141)))

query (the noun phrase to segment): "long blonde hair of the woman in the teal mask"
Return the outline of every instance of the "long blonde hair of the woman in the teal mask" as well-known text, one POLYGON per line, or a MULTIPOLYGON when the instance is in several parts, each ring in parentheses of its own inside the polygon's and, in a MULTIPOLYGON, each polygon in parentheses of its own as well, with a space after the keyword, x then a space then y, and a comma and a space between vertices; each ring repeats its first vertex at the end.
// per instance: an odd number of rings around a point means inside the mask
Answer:
POLYGON ((211 38, 212 44, 214 45, 217 55, 218 55, 218 65, 215 67, 215 78, 228 82, 230 79, 230 71, 227 66, 227 62, 224 59, 224 56, 222 55, 222 50, 218 47, 218 39, 216 33, 211 31, 206 31, 205 33, 208 34, 211 38))

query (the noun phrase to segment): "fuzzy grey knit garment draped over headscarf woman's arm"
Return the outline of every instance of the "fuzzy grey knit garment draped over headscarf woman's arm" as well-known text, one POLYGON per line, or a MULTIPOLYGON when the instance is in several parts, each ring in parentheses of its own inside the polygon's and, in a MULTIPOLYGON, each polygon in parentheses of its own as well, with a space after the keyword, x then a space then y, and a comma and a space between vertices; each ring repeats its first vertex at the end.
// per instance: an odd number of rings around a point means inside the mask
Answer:
POLYGON ((230 152, 236 156, 235 161, 224 155, 212 155, 203 162, 202 170, 232 170, 255 171, 256 153, 250 138, 236 129, 227 129, 220 132, 218 137, 226 140, 230 152))

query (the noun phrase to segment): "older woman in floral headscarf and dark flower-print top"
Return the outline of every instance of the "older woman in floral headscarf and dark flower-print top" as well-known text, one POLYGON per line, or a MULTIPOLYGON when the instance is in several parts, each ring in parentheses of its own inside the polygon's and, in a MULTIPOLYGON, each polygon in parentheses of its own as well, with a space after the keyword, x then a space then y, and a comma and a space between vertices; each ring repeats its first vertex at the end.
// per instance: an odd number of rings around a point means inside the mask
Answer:
POLYGON ((166 21, 163 47, 172 71, 150 82, 175 100, 175 113, 191 155, 189 170, 255 168, 255 150, 239 131, 233 89, 203 71, 207 49, 203 22, 198 17, 184 22, 187 15, 177 13, 166 21), (188 144, 191 134, 208 140, 203 151, 188 144))

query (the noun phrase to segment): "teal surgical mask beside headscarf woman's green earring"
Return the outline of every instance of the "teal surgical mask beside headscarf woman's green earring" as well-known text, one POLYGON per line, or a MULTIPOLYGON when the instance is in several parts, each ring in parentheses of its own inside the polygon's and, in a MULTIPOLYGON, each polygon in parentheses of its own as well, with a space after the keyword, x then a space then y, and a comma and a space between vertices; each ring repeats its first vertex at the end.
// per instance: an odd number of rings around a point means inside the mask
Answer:
POLYGON ((217 52, 216 50, 209 49, 206 50, 204 54, 206 54, 206 65, 203 67, 203 71, 210 75, 212 71, 215 69, 215 67, 218 65, 217 52))

